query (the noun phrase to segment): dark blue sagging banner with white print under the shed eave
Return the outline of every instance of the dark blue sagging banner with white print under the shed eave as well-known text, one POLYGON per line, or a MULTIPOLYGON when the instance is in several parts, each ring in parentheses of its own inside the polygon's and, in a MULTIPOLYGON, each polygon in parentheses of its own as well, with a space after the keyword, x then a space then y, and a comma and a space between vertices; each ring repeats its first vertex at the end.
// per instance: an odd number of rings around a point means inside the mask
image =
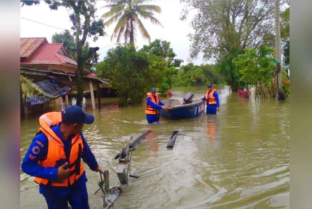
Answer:
POLYGON ((51 78, 47 78, 41 81, 34 81, 34 83, 41 88, 45 95, 49 95, 49 97, 55 98, 61 95, 67 94, 71 87, 57 83, 55 80, 51 78))

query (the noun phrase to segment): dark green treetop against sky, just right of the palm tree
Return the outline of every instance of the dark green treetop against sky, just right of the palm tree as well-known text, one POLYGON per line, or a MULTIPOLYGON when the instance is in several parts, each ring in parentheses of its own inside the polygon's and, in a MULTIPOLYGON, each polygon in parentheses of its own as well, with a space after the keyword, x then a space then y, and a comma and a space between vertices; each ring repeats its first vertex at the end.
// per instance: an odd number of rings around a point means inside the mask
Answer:
POLYGON ((149 45, 144 45, 141 50, 146 53, 153 53, 156 56, 163 57, 167 61, 168 67, 180 67, 183 62, 181 59, 174 59, 177 55, 173 52, 173 49, 170 48, 170 42, 168 41, 160 41, 160 39, 156 39, 149 45))

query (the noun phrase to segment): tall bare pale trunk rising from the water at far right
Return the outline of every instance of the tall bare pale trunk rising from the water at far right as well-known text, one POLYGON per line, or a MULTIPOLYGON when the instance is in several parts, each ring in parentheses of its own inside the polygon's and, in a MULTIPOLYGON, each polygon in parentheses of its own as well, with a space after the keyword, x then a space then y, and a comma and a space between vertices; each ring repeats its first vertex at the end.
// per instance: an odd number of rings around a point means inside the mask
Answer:
MULTIPOLYGON (((276 51, 276 60, 281 63, 281 55, 280 55, 280 1, 274 1, 274 17, 275 17, 275 51, 276 51)), ((276 73, 276 85, 277 85, 277 99, 285 100, 283 93, 283 85, 282 85, 282 71, 280 69, 280 65, 277 65, 277 73, 276 73)), ((276 96, 275 96, 276 98, 276 96)))

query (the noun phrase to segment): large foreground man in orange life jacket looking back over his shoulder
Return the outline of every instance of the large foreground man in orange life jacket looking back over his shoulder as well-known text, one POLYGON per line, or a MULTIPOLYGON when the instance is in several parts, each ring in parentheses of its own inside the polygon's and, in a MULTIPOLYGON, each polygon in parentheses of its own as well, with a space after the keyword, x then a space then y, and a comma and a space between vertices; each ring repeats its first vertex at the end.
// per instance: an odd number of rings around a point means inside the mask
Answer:
POLYGON ((94 116, 76 105, 39 118, 40 128, 21 167, 35 177, 48 209, 67 209, 68 202, 72 209, 90 208, 81 159, 95 172, 99 167, 81 130, 93 122, 94 116))

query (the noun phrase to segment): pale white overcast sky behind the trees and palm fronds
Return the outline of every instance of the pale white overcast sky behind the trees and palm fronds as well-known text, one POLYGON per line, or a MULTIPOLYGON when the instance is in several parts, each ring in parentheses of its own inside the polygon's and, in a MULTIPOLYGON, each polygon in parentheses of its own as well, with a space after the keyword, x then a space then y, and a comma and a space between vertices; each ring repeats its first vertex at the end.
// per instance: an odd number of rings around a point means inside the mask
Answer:
MULTIPOLYGON (((98 1, 96 3, 96 7, 98 8, 96 16, 98 16, 99 18, 102 14, 108 11, 108 9, 106 8, 101 8, 106 4, 107 3, 105 1, 98 1)), ((175 59, 184 60, 182 65, 188 64, 189 48, 191 42, 188 40, 187 35, 194 32, 193 28, 189 25, 193 15, 196 14, 196 11, 192 10, 188 18, 185 21, 182 21, 180 20, 180 17, 182 9, 184 7, 184 3, 180 3, 179 0, 156 0, 149 2, 149 4, 154 4, 161 7, 162 12, 160 14, 155 14, 154 17, 156 17, 163 25, 162 28, 161 26, 153 25, 146 20, 141 20, 144 24, 144 27, 151 36, 151 41, 154 41, 155 39, 169 41, 170 46, 173 48, 173 51, 177 55, 175 59)), ((70 13, 71 11, 67 10, 64 7, 60 7, 58 10, 51 10, 44 2, 41 2, 41 4, 39 5, 23 6, 20 8, 20 36, 46 37, 48 42, 51 43, 51 37, 56 32, 63 32, 63 29, 71 30, 72 23, 69 20, 70 13), (36 22, 32 22, 24 18, 36 22), (42 25, 37 22, 54 27, 42 25), (58 29, 55 27, 63 29, 58 29)), ((100 47, 100 50, 97 51, 97 53, 100 54, 99 61, 103 61, 107 51, 115 46, 116 39, 110 41, 110 36, 113 33, 115 24, 116 23, 109 27, 106 27, 105 32, 107 33, 107 36, 99 37, 96 42, 94 42, 92 39, 87 39, 91 47, 100 47)), ((139 49, 142 48, 143 45, 149 44, 147 40, 144 40, 140 36, 139 32, 136 39, 137 42, 135 42, 135 46, 139 49)), ((197 60, 194 60, 192 62, 195 65, 200 65, 203 63, 202 57, 199 57, 197 60)))

